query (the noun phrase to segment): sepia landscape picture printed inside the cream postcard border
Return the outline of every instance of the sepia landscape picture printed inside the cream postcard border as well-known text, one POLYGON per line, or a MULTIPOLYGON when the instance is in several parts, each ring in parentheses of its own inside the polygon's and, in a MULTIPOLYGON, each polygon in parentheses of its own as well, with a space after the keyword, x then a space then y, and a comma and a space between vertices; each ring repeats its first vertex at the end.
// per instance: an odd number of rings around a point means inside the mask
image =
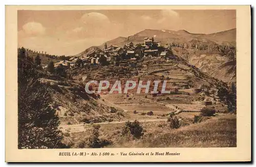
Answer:
POLYGON ((133 157, 147 154, 139 148, 237 148, 237 15, 17 10, 15 147, 62 157, 87 155, 72 149, 133 157))

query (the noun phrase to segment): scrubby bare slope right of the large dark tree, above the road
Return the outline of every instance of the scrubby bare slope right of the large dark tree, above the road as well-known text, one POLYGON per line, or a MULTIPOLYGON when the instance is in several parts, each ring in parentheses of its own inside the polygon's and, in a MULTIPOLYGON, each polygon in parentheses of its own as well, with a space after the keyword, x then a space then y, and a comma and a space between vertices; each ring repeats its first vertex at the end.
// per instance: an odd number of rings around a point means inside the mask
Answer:
POLYGON ((47 75, 39 81, 50 86, 48 92, 51 94, 52 106, 56 108, 61 125, 118 120, 118 112, 123 111, 102 101, 98 94, 88 94, 81 85, 71 80, 47 75))

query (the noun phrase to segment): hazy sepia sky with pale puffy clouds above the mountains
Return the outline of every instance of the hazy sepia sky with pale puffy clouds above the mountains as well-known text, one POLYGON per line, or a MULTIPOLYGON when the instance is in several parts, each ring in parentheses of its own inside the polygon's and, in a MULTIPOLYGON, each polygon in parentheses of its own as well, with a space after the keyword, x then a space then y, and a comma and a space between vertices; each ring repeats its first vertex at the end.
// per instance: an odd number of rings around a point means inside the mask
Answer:
POLYGON ((236 28, 235 10, 19 10, 18 47, 76 55, 145 29, 210 34, 236 28))

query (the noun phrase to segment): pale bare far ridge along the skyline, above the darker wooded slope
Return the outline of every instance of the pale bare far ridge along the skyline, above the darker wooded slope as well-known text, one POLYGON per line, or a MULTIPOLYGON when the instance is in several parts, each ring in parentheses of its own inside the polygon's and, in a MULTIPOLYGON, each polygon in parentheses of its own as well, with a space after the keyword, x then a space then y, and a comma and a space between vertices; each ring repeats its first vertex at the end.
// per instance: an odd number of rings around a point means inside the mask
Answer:
MULTIPOLYGON (((227 31, 222 31, 214 34, 193 34, 189 33, 185 30, 172 31, 172 30, 150 30, 146 29, 139 33, 136 33, 127 38, 118 37, 113 40, 107 41, 107 45, 118 45, 123 46, 123 44, 127 42, 143 43, 145 37, 155 37, 156 41, 161 41, 162 43, 170 43, 170 42, 193 42, 203 41, 206 43, 218 43, 218 44, 228 44, 235 45, 236 44, 236 29, 231 29, 227 31)), ((103 45, 100 45, 99 48, 103 48, 103 45)))

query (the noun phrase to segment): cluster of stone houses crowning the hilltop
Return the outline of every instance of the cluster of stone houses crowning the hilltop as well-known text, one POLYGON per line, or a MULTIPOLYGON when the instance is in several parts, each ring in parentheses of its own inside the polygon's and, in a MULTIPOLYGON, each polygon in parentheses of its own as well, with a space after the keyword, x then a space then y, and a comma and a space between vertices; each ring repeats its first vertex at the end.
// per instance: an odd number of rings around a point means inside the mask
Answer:
MULTIPOLYGON (((123 47, 116 45, 104 45, 104 50, 92 50, 87 55, 71 57, 69 60, 61 60, 54 63, 54 66, 74 68, 85 65, 118 65, 122 60, 135 61, 141 58, 164 57, 165 59, 175 58, 169 45, 161 46, 160 41, 155 41, 154 37, 145 37, 144 43, 134 45, 133 42, 124 44, 123 47)), ((47 67, 44 66, 45 68, 47 67)))

